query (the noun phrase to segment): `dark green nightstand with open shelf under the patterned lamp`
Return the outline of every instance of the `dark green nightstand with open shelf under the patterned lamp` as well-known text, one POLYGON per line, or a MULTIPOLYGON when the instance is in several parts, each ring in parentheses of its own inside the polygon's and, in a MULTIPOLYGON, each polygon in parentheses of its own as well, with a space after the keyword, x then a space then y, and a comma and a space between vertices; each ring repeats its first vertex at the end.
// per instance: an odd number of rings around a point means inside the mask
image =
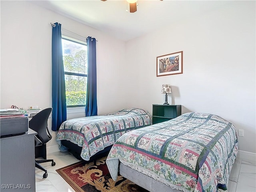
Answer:
POLYGON ((181 115, 181 105, 153 104, 152 124, 168 121, 181 115))

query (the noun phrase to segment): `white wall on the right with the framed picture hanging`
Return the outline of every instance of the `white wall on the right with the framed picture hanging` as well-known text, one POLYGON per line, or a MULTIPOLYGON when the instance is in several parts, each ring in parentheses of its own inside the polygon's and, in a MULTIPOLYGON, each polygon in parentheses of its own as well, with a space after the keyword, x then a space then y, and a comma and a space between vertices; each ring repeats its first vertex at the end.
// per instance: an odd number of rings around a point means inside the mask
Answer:
POLYGON ((152 111, 152 104, 164 103, 162 84, 171 84, 168 102, 181 104, 182 114, 206 112, 231 121, 244 130, 239 150, 256 153, 255 23, 255 1, 232 1, 127 42, 124 70, 138 76, 130 83, 138 93, 134 106, 152 111), (156 77, 156 57, 178 51, 183 74, 156 77))

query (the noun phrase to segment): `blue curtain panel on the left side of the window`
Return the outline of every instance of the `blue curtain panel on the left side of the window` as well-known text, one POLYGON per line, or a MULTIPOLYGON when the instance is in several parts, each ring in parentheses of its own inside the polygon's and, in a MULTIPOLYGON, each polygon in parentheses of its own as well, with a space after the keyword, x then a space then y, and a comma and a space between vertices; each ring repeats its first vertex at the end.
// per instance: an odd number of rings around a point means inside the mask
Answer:
POLYGON ((65 74, 62 57, 61 24, 52 26, 52 130, 67 120, 65 74))

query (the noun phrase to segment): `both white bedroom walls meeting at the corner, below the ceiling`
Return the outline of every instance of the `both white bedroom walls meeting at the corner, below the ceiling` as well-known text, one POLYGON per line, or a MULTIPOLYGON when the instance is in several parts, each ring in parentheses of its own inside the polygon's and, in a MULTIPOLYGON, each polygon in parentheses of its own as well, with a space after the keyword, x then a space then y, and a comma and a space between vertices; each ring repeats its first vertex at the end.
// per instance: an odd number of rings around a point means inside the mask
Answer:
MULTIPOLYGON (((98 114, 132 106, 152 113, 169 83, 169 103, 230 120, 244 129, 240 150, 256 153, 255 1, 230 1, 126 43, 30 2, 1 1, 0 108, 51 106, 50 22, 98 40, 98 114), (156 57, 177 51, 183 74, 156 77, 156 57)), ((68 114, 77 116, 84 113, 68 114)))

